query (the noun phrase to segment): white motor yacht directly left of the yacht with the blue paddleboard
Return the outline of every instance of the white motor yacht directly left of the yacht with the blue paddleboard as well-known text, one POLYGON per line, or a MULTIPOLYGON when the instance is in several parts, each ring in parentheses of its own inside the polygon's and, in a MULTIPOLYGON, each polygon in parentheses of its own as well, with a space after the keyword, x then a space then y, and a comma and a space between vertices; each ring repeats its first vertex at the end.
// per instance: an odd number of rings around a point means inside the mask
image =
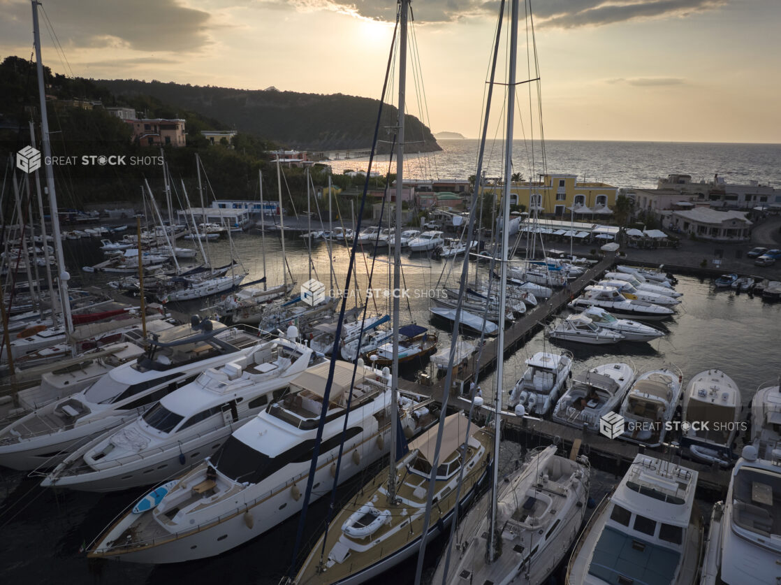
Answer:
POLYGON ((280 398, 292 376, 317 361, 311 348, 294 339, 258 344, 73 451, 41 485, 114 491, 168 480, 214 454, 231 432, 280 398))

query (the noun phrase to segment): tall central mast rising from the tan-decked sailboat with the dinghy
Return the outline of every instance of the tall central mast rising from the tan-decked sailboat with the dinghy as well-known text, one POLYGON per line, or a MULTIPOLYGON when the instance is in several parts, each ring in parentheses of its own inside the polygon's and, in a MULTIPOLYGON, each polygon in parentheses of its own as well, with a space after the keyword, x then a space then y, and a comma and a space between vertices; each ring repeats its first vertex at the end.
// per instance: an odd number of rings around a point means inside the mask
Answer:
POLYGON ((404 102, 407 85, 407 16, 409 0, 401 0, 399 18, 399 54, 398 54, 398 137, 396 141, 396 245, 394 247, 393 271, 393 366, 391 376, 391 470, 388 476, 388 501, 396 500, 396 426, 398 420, 398 330, 401 316, 401 198, 404 196, 404 102))

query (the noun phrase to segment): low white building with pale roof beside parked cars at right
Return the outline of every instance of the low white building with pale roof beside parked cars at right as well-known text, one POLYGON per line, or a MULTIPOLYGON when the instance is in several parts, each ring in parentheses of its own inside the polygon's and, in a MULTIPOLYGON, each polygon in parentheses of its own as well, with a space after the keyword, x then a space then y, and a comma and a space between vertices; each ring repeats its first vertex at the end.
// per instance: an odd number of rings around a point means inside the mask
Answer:
POLYGON ((747 241, 753 225, 746 219, 745 212, 716 211, 705 207, 673 211, 663 221, 669 230, 712 241, 747 241))

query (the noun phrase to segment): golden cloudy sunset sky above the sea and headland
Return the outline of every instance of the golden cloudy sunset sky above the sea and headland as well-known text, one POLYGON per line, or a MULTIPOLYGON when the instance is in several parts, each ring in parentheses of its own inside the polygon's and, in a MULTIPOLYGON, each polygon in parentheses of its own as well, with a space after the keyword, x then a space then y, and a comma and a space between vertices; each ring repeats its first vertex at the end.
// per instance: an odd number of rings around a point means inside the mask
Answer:
MULTIPOLYGON (((43 59, 58 73, 370 98, 396 10, 394 0, 42 5, 43 59)), ((497 7, 412 2, 427 113, 408 112, 433 132, 479 136, 497 7)), ((545 137, 781 143, 779 0, 537 0, 533 13, 545 137)), ((31 30, 30 2, 0 0, 0 55, 29 57, 31 30)))

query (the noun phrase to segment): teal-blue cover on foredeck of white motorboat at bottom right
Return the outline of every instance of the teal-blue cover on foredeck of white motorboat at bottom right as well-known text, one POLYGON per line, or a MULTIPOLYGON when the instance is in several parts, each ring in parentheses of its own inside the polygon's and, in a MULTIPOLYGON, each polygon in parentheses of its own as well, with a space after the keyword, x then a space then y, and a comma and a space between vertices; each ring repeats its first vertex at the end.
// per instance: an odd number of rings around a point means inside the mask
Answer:
POLYGON ((675 580, 679 562, 678 551, 605 526, 591 556, 588 572, 605 583, 617 583, 616 576, 622 575, 633 580, 632 583, 669 585, 675 580), (637 542, 643 546, 637 546, 637 542))

